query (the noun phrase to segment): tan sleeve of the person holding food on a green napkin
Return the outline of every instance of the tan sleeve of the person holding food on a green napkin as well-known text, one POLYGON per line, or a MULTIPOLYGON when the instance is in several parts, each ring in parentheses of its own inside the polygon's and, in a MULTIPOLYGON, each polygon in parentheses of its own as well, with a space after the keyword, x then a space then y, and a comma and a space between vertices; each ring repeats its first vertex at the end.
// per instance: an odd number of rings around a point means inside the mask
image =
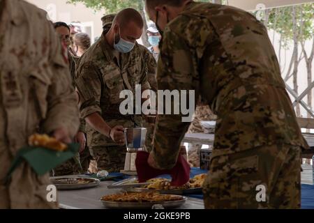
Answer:
POLYGON ((47 118, 43 123, 45 132, 53 132, 57 128, 66 128, 71 137, 79 127, 79 114, 72 79, 66 64, 66 52, 62 52, 59 39, 50 24, 50 69, 54 74, 48 89, 47 118))

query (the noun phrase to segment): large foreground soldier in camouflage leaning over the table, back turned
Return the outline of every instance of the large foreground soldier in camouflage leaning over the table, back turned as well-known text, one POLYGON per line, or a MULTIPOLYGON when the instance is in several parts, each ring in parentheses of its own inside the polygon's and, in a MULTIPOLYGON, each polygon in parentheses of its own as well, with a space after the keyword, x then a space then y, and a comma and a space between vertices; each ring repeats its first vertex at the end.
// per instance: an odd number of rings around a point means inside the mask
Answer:
MULTIPOLYGON (((205 207, 299 208, 300 152, 308 144, 267 29, 229 6, 188 0, 146 4, 150 19, 164 31, 158 89, 195 90, 218 116, 203 185, 205 207), (265 202, 257 202, 257 185, 266 187, 265 202)), ((176 164, 189 125, 181 117, 157 116, 152 167, 176 164)))

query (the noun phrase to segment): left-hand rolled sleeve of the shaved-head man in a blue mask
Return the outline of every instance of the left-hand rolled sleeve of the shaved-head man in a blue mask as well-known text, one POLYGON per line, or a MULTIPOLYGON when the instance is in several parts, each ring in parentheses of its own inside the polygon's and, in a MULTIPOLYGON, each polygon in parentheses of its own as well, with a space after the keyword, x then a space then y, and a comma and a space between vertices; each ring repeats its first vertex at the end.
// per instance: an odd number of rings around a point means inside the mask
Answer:
POLYGON ((79 94, 79 109, 81 118, 86 118, 95 112, 101 113, 101 79, 92 61, 81 61, 76 71, 75 86, 79 94))

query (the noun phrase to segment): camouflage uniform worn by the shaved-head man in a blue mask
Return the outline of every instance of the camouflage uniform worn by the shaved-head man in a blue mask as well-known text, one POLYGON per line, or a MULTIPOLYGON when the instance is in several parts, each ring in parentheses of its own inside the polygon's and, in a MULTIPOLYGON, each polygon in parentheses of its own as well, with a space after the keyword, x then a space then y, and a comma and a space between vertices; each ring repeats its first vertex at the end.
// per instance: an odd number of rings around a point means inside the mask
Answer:
MULTIPOLYGON (((75 72, 75 85, 80 95, 80 114, 86 118, 98 112, 111 128, 116 125, 133 128, 135 123, 142 126, 140 116, 122 115, 119 112, 119 105, 125 100, 119 98, 119 94, 128 89, 135 95, 136 84, 142 85, 142 91, 150 89, 147 65, 137 44, 131 52, 119 54, 119 58, 117 61, 114 49, 107 43, 105 32, 80 58, 75 72)), ((88 124, 87 144, 99 169, 124 169, 126 146, 118 146, 88 124)))

